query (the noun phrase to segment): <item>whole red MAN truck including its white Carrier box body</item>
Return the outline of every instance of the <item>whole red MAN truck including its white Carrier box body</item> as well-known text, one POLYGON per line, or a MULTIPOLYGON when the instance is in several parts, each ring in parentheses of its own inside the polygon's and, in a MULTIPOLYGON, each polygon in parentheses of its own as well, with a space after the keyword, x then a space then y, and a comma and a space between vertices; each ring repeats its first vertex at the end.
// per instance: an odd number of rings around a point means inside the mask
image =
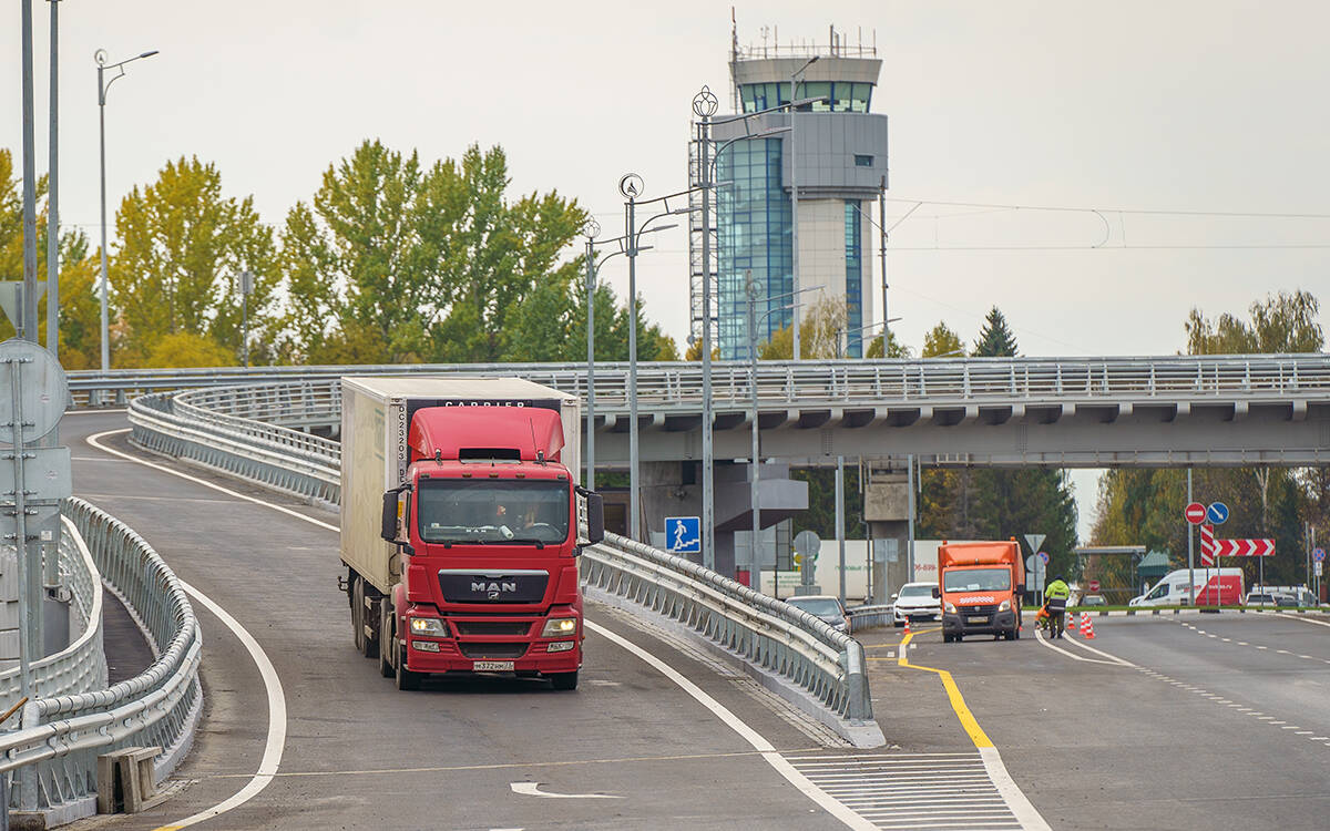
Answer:
POLYGON ((342 585, 356 648, 399 689, 446 673, 577 687, 577 557, 604 537, 580 424, 575 396, 520 379, 342 379, 342 585))

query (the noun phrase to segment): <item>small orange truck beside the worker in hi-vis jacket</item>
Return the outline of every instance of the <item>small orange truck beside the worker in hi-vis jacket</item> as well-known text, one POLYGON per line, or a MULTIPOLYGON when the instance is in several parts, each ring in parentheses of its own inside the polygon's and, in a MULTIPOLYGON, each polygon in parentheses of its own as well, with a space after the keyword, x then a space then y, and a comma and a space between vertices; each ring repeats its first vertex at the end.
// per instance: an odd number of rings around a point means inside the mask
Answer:
POLYGON ((1020 637, 1020 598, 1025 565, 1020 545, 1009 542, 943 542, 938 546, 938 588, 942 600, 942 640, 967 634, 1020 637))

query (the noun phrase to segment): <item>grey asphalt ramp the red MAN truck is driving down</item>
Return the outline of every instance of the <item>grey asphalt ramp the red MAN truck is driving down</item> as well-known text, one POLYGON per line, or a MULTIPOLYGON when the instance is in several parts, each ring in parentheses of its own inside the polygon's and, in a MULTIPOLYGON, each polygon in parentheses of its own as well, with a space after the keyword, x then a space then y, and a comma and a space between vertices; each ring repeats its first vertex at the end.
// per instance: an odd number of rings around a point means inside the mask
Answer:
MULTIPOLYGON (((122 415, 110 414, 64 420, 76 496, 142 533, 182 580, 237 618, 271 659, 286 697, 277 778, 200 827, 843 827, 678 685, 595 633, 575 693, 499 678, 399 693, 351 645, 334 532, 84 441, 124 425, 122 415), (513 783, 605 798, 528 795, 513 783)), ((128 449, 122 433, 108 444, 128 449)), ((234 480, 178 469, 336 523, 335 515, 234 480)), ((76 827, 169 824, 222 802, 258 769, 269 726, 263 681, 230 630, 200 604, 196 610, 206 709, 194 750, 177 772, 186 786, 146 814, 76 827)), ((592 606, 588 617, 692 678, 777 749, 819 747, 739 679, 653 641, 604 608, 592 606)))

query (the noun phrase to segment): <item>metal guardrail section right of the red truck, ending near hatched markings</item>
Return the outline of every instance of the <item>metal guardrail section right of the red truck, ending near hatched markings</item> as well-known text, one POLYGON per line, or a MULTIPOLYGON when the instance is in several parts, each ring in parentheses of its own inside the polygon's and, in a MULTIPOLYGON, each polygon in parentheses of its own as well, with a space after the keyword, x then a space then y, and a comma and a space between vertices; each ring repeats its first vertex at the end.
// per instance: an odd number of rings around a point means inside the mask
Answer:
POLYGON ((851 723, 872 719, 863 645, 807 612, 617 534, 585 548, 581 570, 587 585, 678 621, 783 675, 851 723))

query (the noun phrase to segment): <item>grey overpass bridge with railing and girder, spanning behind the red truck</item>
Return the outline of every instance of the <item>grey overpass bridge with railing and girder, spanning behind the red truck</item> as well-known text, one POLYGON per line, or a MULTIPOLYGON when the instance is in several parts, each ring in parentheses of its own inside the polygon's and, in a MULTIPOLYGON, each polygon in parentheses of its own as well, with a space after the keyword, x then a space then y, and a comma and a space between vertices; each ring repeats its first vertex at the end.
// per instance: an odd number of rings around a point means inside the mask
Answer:
MULTIPOLYGON (((334 429, 347 374, 520 375, 587 396, 585 364, 412 364, 72 372, 81 403, 190 387, 213 412, 334 429)), ((701 459, 701 368, 638 364, 640 457, 701 459)), ((626 363, 595 372, 597 467, 626 468, 626 363)), ((717 459, 747 459, 757 387, 762 455, 968 467, 1301 467, 1330 461, 1330 355, 958 358, 713 364, 717 459)))

